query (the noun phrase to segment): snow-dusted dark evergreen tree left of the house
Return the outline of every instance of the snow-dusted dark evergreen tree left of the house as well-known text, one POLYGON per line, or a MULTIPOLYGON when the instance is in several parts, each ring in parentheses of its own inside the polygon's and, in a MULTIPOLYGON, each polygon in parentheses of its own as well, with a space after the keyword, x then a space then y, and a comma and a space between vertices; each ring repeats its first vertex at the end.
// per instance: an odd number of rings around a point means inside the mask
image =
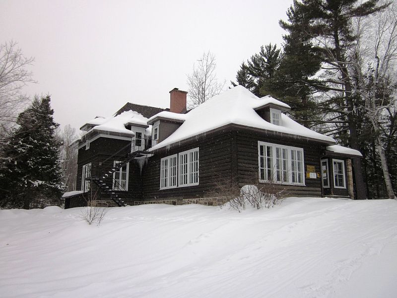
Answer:
POLYGON ((17 118, 3 148, 1 206, 30 209, 59 204, 64 184, 50 96, 35 97, 17 118))

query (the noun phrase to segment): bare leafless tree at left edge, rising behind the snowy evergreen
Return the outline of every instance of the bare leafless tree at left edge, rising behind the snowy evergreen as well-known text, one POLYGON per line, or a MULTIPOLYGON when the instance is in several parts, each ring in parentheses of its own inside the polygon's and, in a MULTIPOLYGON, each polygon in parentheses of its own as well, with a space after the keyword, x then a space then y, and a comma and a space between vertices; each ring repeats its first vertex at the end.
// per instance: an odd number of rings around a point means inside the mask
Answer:
POLYGON ((0 125, 7 129, 16 120, 17 112, 29 98, 22 94, 26 83, 35 83, 32 72, 27 68, 34 58, 22 54, 17 43, 5 42, 0 45, 0 125))

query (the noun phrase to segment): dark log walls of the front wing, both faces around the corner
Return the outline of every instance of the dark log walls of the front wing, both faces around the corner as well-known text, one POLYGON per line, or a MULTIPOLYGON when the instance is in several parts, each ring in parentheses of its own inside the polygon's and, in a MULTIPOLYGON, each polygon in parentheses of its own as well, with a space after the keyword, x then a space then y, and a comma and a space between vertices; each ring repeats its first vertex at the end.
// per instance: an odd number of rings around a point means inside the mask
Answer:
POLYGON ((321 179, 306 177, 306 165, 320 172, 320 156, 324 145, 313 140, 287 138, 277 133, 254 132, 249 129, 226 128, 200 136, 193 144, 165 151, 156 151, 142 172, 143 198, 197 198, 211 193, 216 182, 236 177, 239 186, 255 183, 258 179, 258 141, 293 146, 304 150, 306 186, 286 186, 291 195, 321 196, 321 179), (160 159, 199 147, 199 185, 160 190, 160 159))

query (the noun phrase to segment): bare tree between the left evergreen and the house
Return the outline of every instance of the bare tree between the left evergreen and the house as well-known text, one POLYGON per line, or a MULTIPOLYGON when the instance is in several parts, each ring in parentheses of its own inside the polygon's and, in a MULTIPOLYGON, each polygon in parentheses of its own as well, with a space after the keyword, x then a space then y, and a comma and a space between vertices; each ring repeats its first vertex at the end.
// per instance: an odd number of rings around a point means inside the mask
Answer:
POLYGON ((65 126, 61 140, 62 167, 64 171, 64 183, 67 191, 75 190, 77 176, 77 149, 72 147, 72 143, 77 139, 76 129, 69 124, 65 126))

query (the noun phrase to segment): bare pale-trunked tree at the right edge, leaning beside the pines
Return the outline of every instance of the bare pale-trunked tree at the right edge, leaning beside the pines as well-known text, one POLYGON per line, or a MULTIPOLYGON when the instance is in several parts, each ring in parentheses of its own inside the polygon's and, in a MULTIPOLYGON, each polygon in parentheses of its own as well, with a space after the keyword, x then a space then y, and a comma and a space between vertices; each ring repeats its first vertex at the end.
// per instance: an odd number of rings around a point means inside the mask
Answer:
POLYGON ((396 8, 396 3, 392 3, 387 9, 377 12, 369 19, 357 21, 359 38, 353 56, 358 76, 356 91, 364 99, 361 108, 365 111, 376 136, 376 149, 381 159, 386 191, 390 199, 397 199, 397 197, 389 174, 382 131, 384 123, 388 122, 388 114, 397 109, 396 8))

